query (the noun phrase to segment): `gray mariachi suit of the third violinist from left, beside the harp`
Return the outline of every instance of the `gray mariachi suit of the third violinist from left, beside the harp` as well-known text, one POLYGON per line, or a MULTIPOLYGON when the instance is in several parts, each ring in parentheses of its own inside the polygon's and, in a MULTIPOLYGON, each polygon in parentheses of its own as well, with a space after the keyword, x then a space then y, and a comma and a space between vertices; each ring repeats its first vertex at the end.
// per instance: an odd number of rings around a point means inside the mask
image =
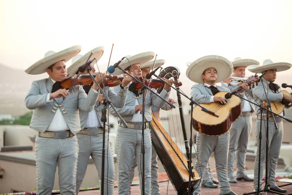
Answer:
MULTIPOLYGON (((130 85, 130 84, 129 84, 130 85)), ((114 87, 116 90, 116 87, 114 87)), ((153 89, 155 90, 155 89, 153 89)), ((156 90, 155 90, 156 91, 156 90)), ((165 90, 162 90, 160 96, 166 100, 169 98, 169 93, 165 90)), ((139 105, 142 105, 142 95, 136 97, 136 95, 129 91, 127 96, 126 105, 123 108, 117 108, 117 111, 120 113, 122 118, 126 122, 131 122, 133 115, 135 113, 135 102, 138 101, 139 105)), ((152 112, 151 106, 161 108, 165 104, 160 98, 155 94, 148 91, 146 102, 145 102, 145 118, 144 122, 151 122, 152 112)), ((110 109, 110 113, 116 114, 110 109)), ((118 123, 120 123, 119 118, 117 118, 118 123)), ((129 129, 124 127, 118 127, 117 132, 117 151, 118 151, 118 187, 119 194, 129 194, 130 186, 130 174, 132 169, 132 162, 134 156, 136 156, 139 178, 141 183, 141 138, 142 131, 129 129)), ((144 131, 144 143, 145 143, 145 194, 151 194, 151 137, 150 129, 147 128, 144 131)))

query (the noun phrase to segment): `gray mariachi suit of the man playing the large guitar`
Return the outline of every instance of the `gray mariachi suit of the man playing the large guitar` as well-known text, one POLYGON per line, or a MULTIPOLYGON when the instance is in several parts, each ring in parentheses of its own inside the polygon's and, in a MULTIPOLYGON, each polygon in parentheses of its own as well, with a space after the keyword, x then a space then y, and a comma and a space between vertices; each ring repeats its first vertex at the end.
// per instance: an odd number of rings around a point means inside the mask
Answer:
MULTIPOLYGON (((219 91, 229 92, 230 90, 225 87, 217 86, 219 91)), ((199 104, 210 104, 210 98, 213 96, 212 91, 205 87, 203 84, 195 84, 192 86, 191 96, 194 101, 199 104)), ((231 191, 230 185, 227 179, 227 155, 229 146, 229 132, 221 136, 207 136, 202 133, 198 133, 196 137, 196 151, 198 154, 199 162, 196 161, 195 169, 199 174, 202 172, 204 175, 205 168, 214 151, 216 172, 220 184, 220 194, 226 194, 231 191)), ((208 170, 206 170, 208 171, 208 170)), ((196 190, 194 193, 200 193, 201 183, 195 186, 196 190)))

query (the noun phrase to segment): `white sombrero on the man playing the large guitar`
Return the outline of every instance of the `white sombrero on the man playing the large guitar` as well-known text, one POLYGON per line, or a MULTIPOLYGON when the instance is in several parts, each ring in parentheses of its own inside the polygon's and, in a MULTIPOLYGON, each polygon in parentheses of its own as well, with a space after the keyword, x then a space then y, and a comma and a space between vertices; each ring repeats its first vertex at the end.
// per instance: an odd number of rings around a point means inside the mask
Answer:
POLYGON ((207 55, 192 62, 186 69, 186 76, 196 82, 204 83, 202 74, 207 68, 214 68, 217 70, 217 81, 221 82, 231 76, 233 66, 231 62, 219 55, 207 55))

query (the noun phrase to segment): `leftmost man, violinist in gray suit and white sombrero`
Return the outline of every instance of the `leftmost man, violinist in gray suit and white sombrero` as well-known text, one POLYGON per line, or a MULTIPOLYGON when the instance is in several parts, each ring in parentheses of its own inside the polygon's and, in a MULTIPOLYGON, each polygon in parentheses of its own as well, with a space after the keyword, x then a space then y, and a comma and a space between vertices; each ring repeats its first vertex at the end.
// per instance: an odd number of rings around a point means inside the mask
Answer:
MULTIPOLYGON (((38 131, 36 137, 37 194, 50 195, 54 186, 58 164, 61 194, 75 194, 78 143, 75 133, 80 130, 79 110, 89 112, 98 97, 98 87, 93 84, 86 95, 75 85, 70 92, 61 89, 67 78, 65 62, 77 55, 81 46, 76 45, 45 57, 28 69, 28 74, 47 72, 49 78, 33 81, 25 97, 25 105, 33 109, 30 128, 38 131), (64 99, 65 98, 65 99, 64 99)), ((101 81, 96 76, 96 81, 101 81)))

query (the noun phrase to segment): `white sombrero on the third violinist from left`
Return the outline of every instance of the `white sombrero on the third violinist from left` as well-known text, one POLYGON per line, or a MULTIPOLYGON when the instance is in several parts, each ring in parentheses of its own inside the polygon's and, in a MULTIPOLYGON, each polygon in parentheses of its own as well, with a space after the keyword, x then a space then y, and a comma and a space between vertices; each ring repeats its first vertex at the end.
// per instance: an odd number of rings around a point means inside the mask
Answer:
MULTIPOLYGON (((148 52, 140 53, 133 56, 128 55, 126 57, 129 59, 131 64, 139 63, 140 66, 143 66, 144 64, 149 62, 151 59, 153 59, 154 55, 155 53, 153 51, 148 51, 148 52)), ((130 66, 130 63, 127 60, 127 58, 124 58, 119 65, 122 69, 126 69, 127 67, 130 66)), ((115 72, 112 73, 112 75, 120 75, 120 74, 123 74, 123 71, 121 71, 118 68, 116 68, 115 72)))

